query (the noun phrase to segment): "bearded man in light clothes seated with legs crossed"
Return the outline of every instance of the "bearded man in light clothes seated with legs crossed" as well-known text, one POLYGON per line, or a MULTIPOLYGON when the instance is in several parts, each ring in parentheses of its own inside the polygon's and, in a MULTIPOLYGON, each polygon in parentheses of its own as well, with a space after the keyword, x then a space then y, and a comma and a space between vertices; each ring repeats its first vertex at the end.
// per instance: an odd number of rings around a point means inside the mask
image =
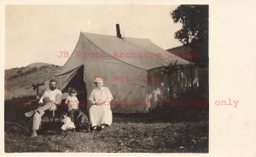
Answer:
POLYGON ((25 113, 27 117, 33 116, 33 124, 32 124, 32 136, 37 137, 37 131, 39 130, 39 126, 41 124, 41 117, 44 115, 44 111, 55 110, 56 105, 61 104, 61 90, 56 89, 56 81, 55 79, 49 80, 49 90, 44 91, 44 95, 39 100, 40 106, 33 110, 32 112, 25 113))

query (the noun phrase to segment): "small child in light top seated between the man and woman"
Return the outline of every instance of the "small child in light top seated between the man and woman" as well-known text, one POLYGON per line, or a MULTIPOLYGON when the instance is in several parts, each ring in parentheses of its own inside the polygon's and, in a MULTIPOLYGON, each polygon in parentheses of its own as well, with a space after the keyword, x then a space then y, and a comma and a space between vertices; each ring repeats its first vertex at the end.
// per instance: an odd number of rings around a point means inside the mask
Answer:
POLYGON ((67 104, 68 113, 70 113, 70 119, 73 121, 74 114, 79 112, 79 100, 77 98, 77 90, 74 88, 70 88, 68 90, 68 95, 69 96, 67 96, 65 104, 67 104))

